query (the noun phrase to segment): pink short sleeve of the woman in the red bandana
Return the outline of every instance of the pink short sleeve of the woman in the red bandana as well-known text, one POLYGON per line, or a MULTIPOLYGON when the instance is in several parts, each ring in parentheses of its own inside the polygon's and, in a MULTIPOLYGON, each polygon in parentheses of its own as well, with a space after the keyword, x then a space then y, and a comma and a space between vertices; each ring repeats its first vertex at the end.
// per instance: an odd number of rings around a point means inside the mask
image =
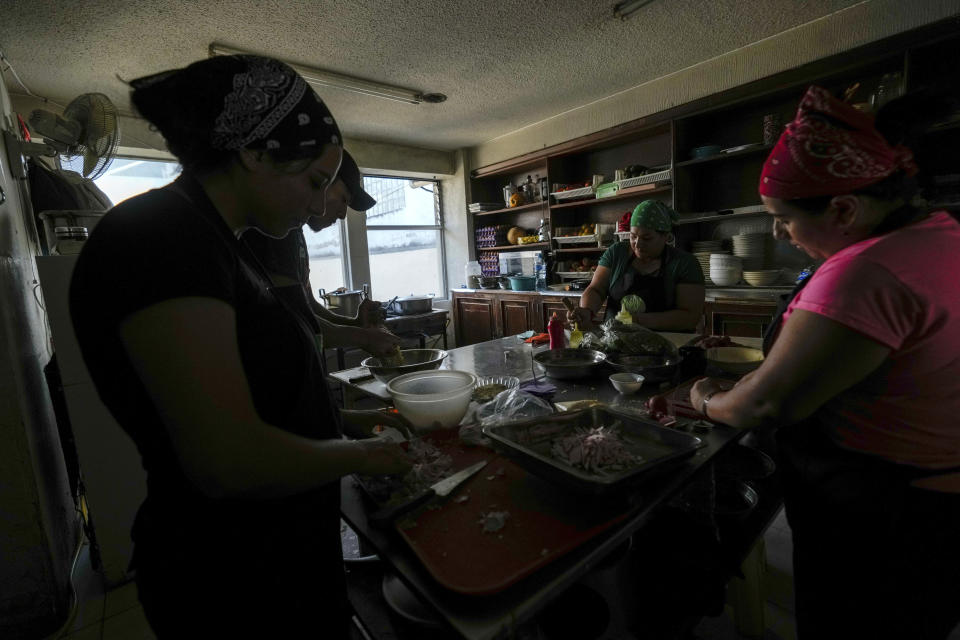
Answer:
POLYGON ((886 268, 856 256, 825 262, 790 306, 835 320, 891 349, 903 346, 922 323, 921 305, 909 288, 886 268))

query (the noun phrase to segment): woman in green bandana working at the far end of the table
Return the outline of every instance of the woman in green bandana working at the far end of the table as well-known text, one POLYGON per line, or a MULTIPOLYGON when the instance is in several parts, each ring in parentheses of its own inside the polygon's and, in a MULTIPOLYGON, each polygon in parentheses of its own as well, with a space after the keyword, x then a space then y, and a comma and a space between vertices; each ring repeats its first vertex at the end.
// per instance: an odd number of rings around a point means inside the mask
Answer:
POLYGON ((567 320, 589 329, 604 302, 607 317, 613 317, 624 297, 636 295, 644 310, 633 314, 635 323, 662 331, 695 329, 703 314, 703 272, 696 258, 668 244, 676 218, 657 200, 638 204, 630 218, 630 240, 604 252, 567 320))

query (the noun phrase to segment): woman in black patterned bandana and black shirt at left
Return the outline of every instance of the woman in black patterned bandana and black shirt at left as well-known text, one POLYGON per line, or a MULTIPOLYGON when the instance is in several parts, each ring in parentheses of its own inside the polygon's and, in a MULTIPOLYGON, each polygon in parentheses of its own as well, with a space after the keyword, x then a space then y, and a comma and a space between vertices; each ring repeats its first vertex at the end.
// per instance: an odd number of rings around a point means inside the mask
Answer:
POLYGON ((268 58, 131 84, 183 174, 104 216, 70 311, 147 470, 133 527, 144 612, 161 638, 345 637, 339 478, 409 461, 340 437, 312 327, 237 240, 323 215, 340 132, 303 78, 268 58))

